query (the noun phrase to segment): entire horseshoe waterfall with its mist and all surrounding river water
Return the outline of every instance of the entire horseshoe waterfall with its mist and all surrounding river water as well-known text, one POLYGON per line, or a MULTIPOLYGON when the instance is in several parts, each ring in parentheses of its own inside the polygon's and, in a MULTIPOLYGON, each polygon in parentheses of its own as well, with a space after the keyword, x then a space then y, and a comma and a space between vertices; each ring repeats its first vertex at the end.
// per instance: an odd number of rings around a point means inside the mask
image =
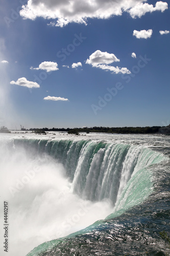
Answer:
POLYGON ((8 255, 169 255, 169 149, 158 135, 2 135, 8 255))

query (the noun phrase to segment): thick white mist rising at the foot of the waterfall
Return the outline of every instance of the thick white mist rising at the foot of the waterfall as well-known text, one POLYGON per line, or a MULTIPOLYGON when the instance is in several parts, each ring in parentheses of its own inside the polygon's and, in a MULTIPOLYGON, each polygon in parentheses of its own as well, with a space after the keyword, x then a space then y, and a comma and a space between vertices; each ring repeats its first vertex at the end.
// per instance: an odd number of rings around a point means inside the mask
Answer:
MULTIPOLYGON (((92 203, 71 193, 62 164, 43 155, 35 158, 21 148, 4 149, 0 141, 1 212, 9 204, 9 252, 25 256, 39 244, 81 230, 112 212, 109 201, 92 203), (13 153, 12 153, 13 152, 13 153)), ((1 224, 4 216, 1 215, 1 224)))

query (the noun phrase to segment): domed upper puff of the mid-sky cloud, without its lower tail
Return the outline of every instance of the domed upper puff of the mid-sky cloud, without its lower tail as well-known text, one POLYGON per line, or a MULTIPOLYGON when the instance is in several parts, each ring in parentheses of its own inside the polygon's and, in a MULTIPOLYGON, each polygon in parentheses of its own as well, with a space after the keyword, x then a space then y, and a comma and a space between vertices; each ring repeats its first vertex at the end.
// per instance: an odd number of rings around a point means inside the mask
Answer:
POLYGON ((89 59, 86 60, 86 63, 95 66, 98 64, 110 64, 114 61, 120 60, 113 53, 97 50, 90 55, 89 59))

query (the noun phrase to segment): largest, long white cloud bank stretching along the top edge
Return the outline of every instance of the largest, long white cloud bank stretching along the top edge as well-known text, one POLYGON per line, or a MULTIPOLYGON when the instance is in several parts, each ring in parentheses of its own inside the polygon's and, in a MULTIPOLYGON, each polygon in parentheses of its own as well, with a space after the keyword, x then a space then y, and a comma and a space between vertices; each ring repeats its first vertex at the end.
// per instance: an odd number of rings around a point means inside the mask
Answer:
POLYGON ((167 3, 161 1, 155 7, 143 2, 145 0, 29 0, 27 5, 22 6, 20 15, 32 20, 37 17, 56 19, 57 22, 51 22, 51 25, 63 27, 72 22, 86 24, 87 18, 106 19, 123 12, 130 12, 132 17, 136 17, 167 9, 167 3))

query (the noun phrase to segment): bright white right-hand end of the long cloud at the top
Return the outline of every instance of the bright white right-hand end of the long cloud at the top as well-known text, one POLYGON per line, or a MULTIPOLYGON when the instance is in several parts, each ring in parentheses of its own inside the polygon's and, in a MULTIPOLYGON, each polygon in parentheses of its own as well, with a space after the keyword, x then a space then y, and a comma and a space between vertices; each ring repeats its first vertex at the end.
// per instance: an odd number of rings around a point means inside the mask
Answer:
POLYGON ((155 7, 147 3, 137 4, 133 8, 131 8, 128 12, 130 13, 132 18, 136 18, 136 17, 141 17, 147 12, 154 12, 154 11, 164 12, 166 9, 168 9, 167 3, 159 1, 156 3, 155 7))

